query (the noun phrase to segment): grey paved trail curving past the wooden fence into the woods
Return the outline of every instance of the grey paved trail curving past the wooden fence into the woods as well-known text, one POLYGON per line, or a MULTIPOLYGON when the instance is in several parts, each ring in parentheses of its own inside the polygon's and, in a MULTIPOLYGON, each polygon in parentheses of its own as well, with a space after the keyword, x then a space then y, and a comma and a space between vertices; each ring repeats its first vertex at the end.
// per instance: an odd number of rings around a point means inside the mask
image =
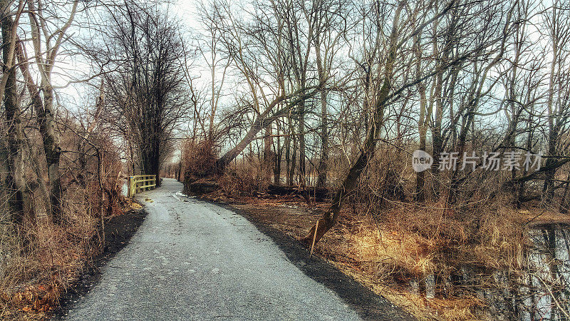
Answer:
POLYGON ((69 319, 359 320, 245 218, 181 189, 164 179, 138 195, 145 222, 69 319))

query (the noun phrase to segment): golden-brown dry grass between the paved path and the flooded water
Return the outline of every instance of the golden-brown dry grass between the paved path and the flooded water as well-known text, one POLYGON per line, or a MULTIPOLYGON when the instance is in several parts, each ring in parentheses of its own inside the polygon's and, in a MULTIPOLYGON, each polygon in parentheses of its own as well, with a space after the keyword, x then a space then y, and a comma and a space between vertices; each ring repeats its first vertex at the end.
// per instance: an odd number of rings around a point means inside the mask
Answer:
POLYGON ((319 250, 390 300, 411 302, 410 312, 420 318, 484 318, 487 303, 475 294, 490 286, 484 275, 524 268, 529 239, 519 218, 510 208, 462 216, 435 206, 395 208, 380 218, 351 213, 319 250), (480 277, 465 280, 462 267, 480 277), (437 280, 436 298, 429 300, 420 294, 428 275, 437 280))

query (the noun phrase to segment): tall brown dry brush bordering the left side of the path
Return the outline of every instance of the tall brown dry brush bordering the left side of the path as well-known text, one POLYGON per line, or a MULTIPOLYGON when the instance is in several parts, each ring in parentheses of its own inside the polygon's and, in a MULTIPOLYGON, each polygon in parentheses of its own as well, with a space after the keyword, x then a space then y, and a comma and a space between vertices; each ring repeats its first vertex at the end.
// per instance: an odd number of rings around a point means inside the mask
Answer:
MULTIPOLYGON (((98 193, 69 188, 63 225, 49 220, 26 220, 18 230, 6 220, 0 225, 0 319, 46 319, 86 263, 100 253, 98 199, 93 195, 98 193)), ((115 203, 112 208, 111 215, 125 210, 115 203)))

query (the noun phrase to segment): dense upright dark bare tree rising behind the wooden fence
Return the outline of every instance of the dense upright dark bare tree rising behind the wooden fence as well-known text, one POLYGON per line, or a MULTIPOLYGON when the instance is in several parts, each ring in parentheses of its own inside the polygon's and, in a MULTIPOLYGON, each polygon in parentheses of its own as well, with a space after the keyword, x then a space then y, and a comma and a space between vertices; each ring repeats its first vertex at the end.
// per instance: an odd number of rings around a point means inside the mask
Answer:
POLYGON ((91 44, 89 54, 105 74, 108 121, 135 149, 140 172, 160 184, 172 133, 187 111, 187 53, 166 12, 135 2, 115 8, 106 49, 91 44))

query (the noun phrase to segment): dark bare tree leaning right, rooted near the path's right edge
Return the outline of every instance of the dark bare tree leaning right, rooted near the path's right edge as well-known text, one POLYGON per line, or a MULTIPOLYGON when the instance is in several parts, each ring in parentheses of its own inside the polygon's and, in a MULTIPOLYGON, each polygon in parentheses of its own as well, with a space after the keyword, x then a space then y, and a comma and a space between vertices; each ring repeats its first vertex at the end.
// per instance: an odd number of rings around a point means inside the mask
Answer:
MULTIPOLYGON (((398 58, 403 57, 402 54, 408 46, 412 47, 412 52, 414 46, 417 48, 418 44, 414 44, 416 42, 414 41, 414 37, 418 33, 422 32, 426 26, 437 24, 436 21, 444 19, 445 17, 453 17, 454 10, 452 9, 457 7, 463 8, 464 12, 470 14, 475 14, 475 12, 483 8, 487 10, 496 8, 495 4, 477 6, 472 4, 456 4, 455 1, 450 1, 442 6, 435 5, 429 7, 427 10, 420 9, 423 8, 422 6, 423 4, 416 4, 416 7, 411 9, 408 1, 398 1, 395 9, 390 13, 391 29, 388 32, 388 36, 386 36, 385 39, 378 36, 378 42, 373 48, 380 49, 382 48, 382 44, 385 44, 384 51, 386 54, 380 59, 375 58, 378 59, 378 61, 374 61, 376 63, 375 66, 378 66, 378 69, 375 71, 378 73, 378 77, 376 78, 381 79, 381 86, 379 86, 378 91, 375 92, 370 128, 367 128, 368 131, 366 133, 366 139, 361 145, 358 158, 356 158, 356 161, 351 165, 346 178, 341 184, 341 188, 338 189, 332 200, 330 208, 323 217, 318 220, 318 225, 316 225, 318 226, 318 229, 314 226, 309 231, 309 234, 301 239, 301 241, 306 245, 310 245, 312 240, 320 240, 322 236, 336 224, 338 213, 340 213, 343 203, 345 203, 348 195, 350 195, 356 187, 358 178, 366 168, 366 165, 368 165, 368 161, 370 161, 375 155, 376 142, 380 138, 380 133, 385 121, 385 108, 390 106, 393 99, 397 98, 400 93, 403 93, 406 88, 417 86, 418 83, 425 81, 432 76, 436 76, 435 92, 437 94, 437 91, 439 91, 437 87, 440 86, 437 83, 437 77, 440 77, 443 71, 449 70, 452 66, 464 63, 468 58, 481 54, 484 49, 490 48, 497 43, 501 43, 501 40, 504 39, 504 33, 501 31, 509 30, 509 19, 496 20, 502 15, 502 13, 497 10, 491 11, 489 16, 486 16, 484 19, 489 19, 489 21, 493 19, 492 21, 496 21, 495 23, 497 24, 497 28, 494 30, 498 30, 498 34, 489 31, 488 36, 482 37, 482 39, 475 43, 473 47, 466 48, 460 52, 455 52, 453 53, 453 56, 451 55, 452 51, 449 51, 449 54, 444 54, 444 57, 440 59, 439 63, 437 63, 435 70, 424 71, 419 77, 416 76, 414 78, 408 78, 406 75, 413 63, 408 61, 406 63, 402 62, 403 65, 400 65, 396 61, 398 61, 398 58), (418 15, 420 14, 425 15, 425 18, 418 18, 418 15), (395 71, 398 71, 398 73, 395 73, 395 71)), ((372 12, 377 16, 386 16, 387 14, 380 11, 379 7, 375 7, 375 11, 372 12)), ((470 17, 470 14, 463 15, 462 19, 468 19, 467 17, 470 17)), ((457 22, 459 23, 459 21, 457 22)), ((474 33, 470 33, 469 35, 473 36, 474 33)), ((453 43, 455 43, 455 41, 452 41, 451 44, 453 43)), ((448 44, 447 46, 451 46, 451 44, 448 44)), ((408 56, 408 58, 410 58, 410 56, 408 56)), ((437 117, 436 112, 436 118, 437 117)), ((435 140, 436 138, 434 138, 434 142, 435 140)), ((438 147, 434 146, 434 150, 436 148, 438 147)))

